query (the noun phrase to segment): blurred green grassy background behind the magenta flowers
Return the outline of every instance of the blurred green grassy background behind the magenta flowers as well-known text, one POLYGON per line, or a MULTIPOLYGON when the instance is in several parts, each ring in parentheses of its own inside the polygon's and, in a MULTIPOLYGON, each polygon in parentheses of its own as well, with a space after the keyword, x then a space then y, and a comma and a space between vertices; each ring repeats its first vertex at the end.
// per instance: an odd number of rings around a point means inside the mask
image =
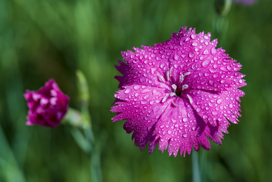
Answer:
POLYGON ((80 107, 78 69, 89 84, 103 181, 190 181, 191 155, 140 152, 124 121, 113 123, 110 112, 120 52, 165 41, 185 25, 219 38, 219 46, 243 65, 248 84, 240 123, 229 127, 223 145, 200 149, 204 181, 271 180, 272 2, 233 3, 221 33, 216 18, 208 0, 0 0, 0 181, 91 180, 90 157, 68 125, 25 125, 25 89, 36 90, 49 78, 70 96, 71 107, 80 107))

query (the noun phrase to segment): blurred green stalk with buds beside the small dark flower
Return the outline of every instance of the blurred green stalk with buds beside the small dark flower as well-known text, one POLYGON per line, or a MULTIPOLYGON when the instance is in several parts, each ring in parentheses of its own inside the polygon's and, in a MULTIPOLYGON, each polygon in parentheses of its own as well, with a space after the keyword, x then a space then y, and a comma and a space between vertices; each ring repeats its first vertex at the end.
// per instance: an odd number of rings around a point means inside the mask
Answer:
POLYGON ((98 143, 94 139, 91 116, 88 110, 89 105, 89 89, 87 80, 81 71, 76 72, 77 87, 78 87, 78 100, 80 101, 80 111, 69 108, 65 117, 65 122, 69 123, 71 134, 86 154, 90 155, 90 173, 91 181, 101 182, 101 166, 100 166, 100 152, 98 143))

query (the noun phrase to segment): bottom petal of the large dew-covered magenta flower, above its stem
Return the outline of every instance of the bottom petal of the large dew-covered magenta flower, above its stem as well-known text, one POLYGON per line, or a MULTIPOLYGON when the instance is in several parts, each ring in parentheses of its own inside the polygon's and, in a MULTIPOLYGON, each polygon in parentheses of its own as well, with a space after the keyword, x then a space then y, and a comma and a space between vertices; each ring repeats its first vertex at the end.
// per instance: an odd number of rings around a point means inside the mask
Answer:
POLYGON ((206 137, 204 121, 197 117, 195 111, 190 106, 187 100, 176 97, 172 101, 167 102, 168 107, 160 116, 155 124, 154 135, 159 139, 159 150, 167 150, 169 156, 173 153, 174 156, 182 153, 191 153, 192 145, 196 151, 199 150, 199 145, 204 149, 209 150, 210 144, 206 137))

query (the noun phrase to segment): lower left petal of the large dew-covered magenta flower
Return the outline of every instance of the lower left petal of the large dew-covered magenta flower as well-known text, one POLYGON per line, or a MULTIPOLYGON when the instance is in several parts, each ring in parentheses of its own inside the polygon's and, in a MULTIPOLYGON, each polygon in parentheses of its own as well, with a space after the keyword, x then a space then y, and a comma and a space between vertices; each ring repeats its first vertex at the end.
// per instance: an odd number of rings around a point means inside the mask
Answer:
POLYGON ((167 107, 166 103, 161 103, 164 98, 161 95, 165 89, 145 85, 130 85, 124 88, 115 95, 121 101, 112 108, 112 112, 118 112, 112 119, 127 119, 124 129, 127 133, 134 131, 132 139, 135 139, 135 145, 143 150, 148 141, 154 142, 153 125, 167 107))

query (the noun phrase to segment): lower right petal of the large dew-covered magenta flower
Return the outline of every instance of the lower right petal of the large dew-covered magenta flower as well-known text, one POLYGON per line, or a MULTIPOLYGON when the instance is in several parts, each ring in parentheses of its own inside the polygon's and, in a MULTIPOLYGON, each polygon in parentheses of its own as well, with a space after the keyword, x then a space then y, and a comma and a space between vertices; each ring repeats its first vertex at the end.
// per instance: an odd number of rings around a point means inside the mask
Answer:
POLYGON ((205 121, 209 122, 212 126, 216 126, 217 123, 226 127, 224 132, 227 132, 228 122, 237 123, 238 116, 241 116, 240 111, 240 97, 243 97, 245 93, 237 88, 228 88, 226 91, 219 92, 207 92, 205 90, 189 90, 191 96, 192 106, 199 114, 199 116, 205 121))

